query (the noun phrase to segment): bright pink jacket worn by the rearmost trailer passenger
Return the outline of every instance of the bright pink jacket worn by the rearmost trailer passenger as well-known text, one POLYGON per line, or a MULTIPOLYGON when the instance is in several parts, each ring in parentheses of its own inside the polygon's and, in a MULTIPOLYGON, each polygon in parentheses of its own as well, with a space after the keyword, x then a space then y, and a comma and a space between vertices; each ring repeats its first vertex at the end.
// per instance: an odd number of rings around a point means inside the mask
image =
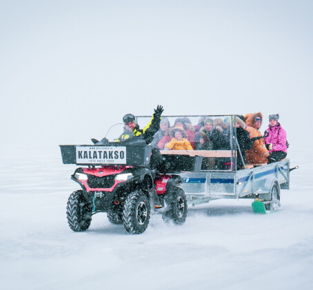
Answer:
POLYGON ((283 130, 283 127, 281 127, 280 123, 277 123, 276 126, 271 127, 268 125, 267 130, 265 130, 264 134, 268 132, 269 135, 264 139, 265 144, 271 144, 273 145, 273 149, 269 152, 273 151, 283 151, 287 153, 287 135, 285 130, 283 130))

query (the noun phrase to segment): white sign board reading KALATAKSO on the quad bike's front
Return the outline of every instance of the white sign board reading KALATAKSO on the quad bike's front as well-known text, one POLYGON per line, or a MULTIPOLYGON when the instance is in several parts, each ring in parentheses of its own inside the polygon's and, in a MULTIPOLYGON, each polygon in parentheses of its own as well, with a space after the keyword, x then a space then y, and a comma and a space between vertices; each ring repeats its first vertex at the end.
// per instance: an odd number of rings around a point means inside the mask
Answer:
POLYGON ((126 147, 76 146, 76 163, 126 164, 126 147))

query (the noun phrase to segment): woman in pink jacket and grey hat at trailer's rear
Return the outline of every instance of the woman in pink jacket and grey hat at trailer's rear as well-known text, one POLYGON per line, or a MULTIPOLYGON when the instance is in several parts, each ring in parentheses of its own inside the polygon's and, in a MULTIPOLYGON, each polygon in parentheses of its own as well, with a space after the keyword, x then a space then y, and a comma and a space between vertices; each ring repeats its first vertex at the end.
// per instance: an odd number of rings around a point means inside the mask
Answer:
POLYGON ((265 130, 264 134, 268 133, 265 137, 265 145, 270 152, 267 157, 268 163, 273 163, 286 158, 287 156, 287 135, 279 121, 279 114, 269 116, 270 125, 265 130))

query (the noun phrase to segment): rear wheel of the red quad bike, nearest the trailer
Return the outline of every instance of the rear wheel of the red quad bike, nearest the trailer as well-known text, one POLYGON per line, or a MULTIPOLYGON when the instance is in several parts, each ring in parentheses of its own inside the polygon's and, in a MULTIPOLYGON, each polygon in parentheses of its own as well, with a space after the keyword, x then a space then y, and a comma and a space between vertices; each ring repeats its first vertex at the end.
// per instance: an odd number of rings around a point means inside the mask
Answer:
POLYGON ((181 188, 175 188, 172 192, 170 210, 162 215, 165 222, 172 220, 175 225, 183 225, 187 217, 187 198, 181 188))

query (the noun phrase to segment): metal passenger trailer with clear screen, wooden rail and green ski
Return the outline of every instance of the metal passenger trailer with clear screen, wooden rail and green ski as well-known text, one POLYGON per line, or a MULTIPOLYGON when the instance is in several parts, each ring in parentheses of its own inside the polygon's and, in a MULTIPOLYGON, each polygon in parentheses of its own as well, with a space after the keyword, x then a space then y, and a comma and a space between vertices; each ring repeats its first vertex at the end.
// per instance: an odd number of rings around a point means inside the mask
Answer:
MULTIPOLYGON (((141 116, 144 117, 144 116, 141 116)), ((236 115, 222 116, 167 116, 175 118, 212 118, 228 121, 228 148, 219 150, 162 150, 170 168, 167 174, 181 176, 181 188, 185 192, 188 204, 192 206, 209 203, 211 200, 228 198, 251 198, 254 213, 265 214, 281 209, 281 189, 290 187, 290 160, 276 163, 243 163, 244 168, 236 169, 237 156, 236 115), (212 166, 216 160, 228 161, 228 168, 212 166), (211 163, 211 166, 210 166, 211 163), (204 165, 207 164, 205 167, 204 165)), ((140 118, 140 117, 139 117, 140 118)), ((175 122, 175 121, 174 121, 175 122)))

